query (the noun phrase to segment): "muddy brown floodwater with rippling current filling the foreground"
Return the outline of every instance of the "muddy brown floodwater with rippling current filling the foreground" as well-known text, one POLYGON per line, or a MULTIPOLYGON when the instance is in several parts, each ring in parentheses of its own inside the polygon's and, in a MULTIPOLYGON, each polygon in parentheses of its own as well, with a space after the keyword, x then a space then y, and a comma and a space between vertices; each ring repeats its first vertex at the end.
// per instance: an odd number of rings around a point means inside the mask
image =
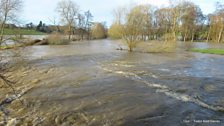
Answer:
MULTIPOLYGON (((97 40, 24 48, 26 63, 9 73, 23 104, 2 105, 0 125, 224 125, 224 56, 187 52, 183 43, 155 54, 119 46, 97 40)), ((1 99, 10 97, 1 88, 1 99)))

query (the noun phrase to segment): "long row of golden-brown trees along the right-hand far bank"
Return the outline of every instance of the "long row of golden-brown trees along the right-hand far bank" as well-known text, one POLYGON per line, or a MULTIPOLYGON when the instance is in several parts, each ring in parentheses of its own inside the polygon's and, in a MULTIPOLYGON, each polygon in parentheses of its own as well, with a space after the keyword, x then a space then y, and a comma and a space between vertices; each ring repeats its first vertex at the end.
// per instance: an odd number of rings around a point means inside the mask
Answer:
POLYGON ((108 34, 128 43, 146 40, 221 43, 224 42, 224 3, 217 2, 215 12, 208 15, 187 0, 173 0, 161 8, 148 4, 119 7, 114 10, 108 34))

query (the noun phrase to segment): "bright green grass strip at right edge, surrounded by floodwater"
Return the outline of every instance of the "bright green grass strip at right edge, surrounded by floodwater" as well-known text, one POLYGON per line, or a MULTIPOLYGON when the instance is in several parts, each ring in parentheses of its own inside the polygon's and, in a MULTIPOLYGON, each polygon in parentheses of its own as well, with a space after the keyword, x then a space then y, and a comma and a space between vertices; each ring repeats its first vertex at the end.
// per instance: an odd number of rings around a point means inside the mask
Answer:
POLYGON ((192 52, 224 55, 224 49, 190 49, 192 52))

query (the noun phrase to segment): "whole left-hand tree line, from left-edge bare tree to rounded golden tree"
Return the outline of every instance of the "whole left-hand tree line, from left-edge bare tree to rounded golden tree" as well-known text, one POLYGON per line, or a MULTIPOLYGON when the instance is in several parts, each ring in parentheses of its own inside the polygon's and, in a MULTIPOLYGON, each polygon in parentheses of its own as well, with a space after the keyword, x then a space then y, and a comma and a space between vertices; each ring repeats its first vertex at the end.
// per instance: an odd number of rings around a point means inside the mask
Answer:
MULTIPOLYGON (((16 27, 14 24, 21 23, 18 15, 22 10, 23 2, 23 0, 0 0, 0 41, 3 41, 4 31, 8 26, 16 27)), ((69 40, 100 39, 107 35, 104 23, 94 22, 92 13, 89 10, 81 12, 79 6, 72 0, 59 1, 55 12, 60 19, 49 19, 52 25, 40 21, 36 26, 31 22, 25 27, 17 28, 45 33, 58 32, 68 35, 69 40)))

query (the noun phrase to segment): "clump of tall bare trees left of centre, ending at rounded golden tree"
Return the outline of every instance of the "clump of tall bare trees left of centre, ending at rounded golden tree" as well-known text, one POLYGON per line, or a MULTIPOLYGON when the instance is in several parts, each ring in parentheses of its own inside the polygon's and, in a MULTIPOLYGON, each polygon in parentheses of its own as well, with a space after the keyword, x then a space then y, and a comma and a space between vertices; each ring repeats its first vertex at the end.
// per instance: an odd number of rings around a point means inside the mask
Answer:
POLYGON ((93 22, 93 15, 88 10, 84 13, 80 12, 79 6, 72 0, 62 0, 58 2, 57 13, 60 16, 64 33, 68 35, 68 39, 72 37, 83 40, 106 38, 106 25, 102 22, 93 22))

